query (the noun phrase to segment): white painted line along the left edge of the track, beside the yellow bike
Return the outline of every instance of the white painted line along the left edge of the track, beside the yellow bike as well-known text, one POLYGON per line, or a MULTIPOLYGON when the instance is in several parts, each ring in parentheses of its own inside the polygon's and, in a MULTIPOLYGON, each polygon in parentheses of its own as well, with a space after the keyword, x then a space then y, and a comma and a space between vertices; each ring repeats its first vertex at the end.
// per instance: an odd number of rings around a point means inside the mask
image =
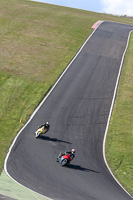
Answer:
MULTIPOLYGON (((103 21, 104 22, 104 21, 103 21)), ((103 22, 101 22, 100 24, 102 24, 103 22)), ((60 75, 60 77, 58 78, 58 80, 55 82, 55 84, 53 85, 53 87, 51 88, 51 90, 48 92, 48 94, 44 97, 44 99, 42 100, 42 102, 39 104, 39 106, 35 109, 35 111, 32 113, 32 115, 30 116, 29 120, 26 122, 26 124, 22 127, 22 129, 18 132, 18 134, 16 135, 15 139, 13 140, 9 151, 7 153, 7 156, 5 158, 4 161, 4 170, 6 172, 6 174, 16 183, 18 183, 19 185, 23 186, 24 188, 27 188, 30 191, 33 191, 37 194, 40 194, 24 185, 22 185, 21 183, 17 182, 7 171, 7 160, 9 158, 9 155, 11 153, 11 150, 17 140, 17 138, 19 137, 20 133, 23 131, 23 129, 29 124, 29 122, 32 120, 32 118, 34 117, 34 115, 37 113, 37 111, 40 109, 40 107, 42 106, 42 104, 46 101, 46 99, 48 98, 48 96, 52 93, 52 91, 54 90, 54 88, 56 87, 56 85, 58 84, 58 82, 61 80, 61 78, 63 77, 63 75, 66 73, 66 71, 68 70, 68 68, 70 67, 70 65, 73 63, 73 61, 76 59, 76 57, 79 55, 79 53, 81 52, 81 50, 83 49, 83 47, 85 46, 85 44, 88 42, 88 40, 91 38, 91 36, 94 34, 94 32, 97 30, 97 28, 100 26, 100 24, 96 27, 96 29, 91 33, 91 35, 87 38, 87 40, 83 43, 83 45, 80 47, 80 49, 78 50, 78 52, 76 53, 76 55, 73 57, 73 59, 70 61, 70 63, 67 65, 67 67, 65 68, 65 70, 62 72, 62 74, 60 75)), ((40 194, 41 196, 45 197, 44 195, 40 194)), ((49 198, 49 197, 47 197, 49 198)))

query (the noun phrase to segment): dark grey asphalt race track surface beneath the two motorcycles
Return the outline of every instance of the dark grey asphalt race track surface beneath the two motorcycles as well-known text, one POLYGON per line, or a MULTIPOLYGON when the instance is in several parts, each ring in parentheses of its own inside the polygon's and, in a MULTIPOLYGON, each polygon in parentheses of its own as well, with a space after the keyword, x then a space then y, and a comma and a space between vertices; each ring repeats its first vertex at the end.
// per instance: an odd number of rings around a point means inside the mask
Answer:
POLYGON ((131 200, 108 171, 103 139, 121 59, 132 26, 104 22, 90 37, 55 89, 19 135, 7 171, 24 186, 52 199, 131 200), (36 127, 49 121, 47 136, 36 127), (76 149, 68 167, 60 151, 76 149))

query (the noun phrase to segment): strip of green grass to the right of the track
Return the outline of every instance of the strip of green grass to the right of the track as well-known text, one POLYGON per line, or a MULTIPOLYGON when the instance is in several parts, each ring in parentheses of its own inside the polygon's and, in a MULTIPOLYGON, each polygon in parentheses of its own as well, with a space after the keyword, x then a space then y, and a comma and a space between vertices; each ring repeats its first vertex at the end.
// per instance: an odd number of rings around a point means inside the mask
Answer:
POLYGON ((106 156, 112 172, 133 195, 133 33, 106 141, 106 156))

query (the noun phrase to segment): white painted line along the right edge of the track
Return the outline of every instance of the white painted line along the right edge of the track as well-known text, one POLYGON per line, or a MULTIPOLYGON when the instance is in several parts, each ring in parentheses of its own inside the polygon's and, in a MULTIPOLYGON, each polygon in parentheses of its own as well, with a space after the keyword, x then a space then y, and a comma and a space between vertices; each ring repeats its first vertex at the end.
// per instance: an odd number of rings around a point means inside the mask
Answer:
POLYGON ((117 89, 118 89, 118 84, 119 84, 119 79, 120 79, 120 75, 121 75, 121 71, 122 71, 122 68, 123 68, 123 64, 124 64, 124 57, 125 57, 125 54, 126 54, 126 51, 127 51, 127 48, 128 48, 128 44, 129 44, 129 39, 130 39, 130 35, 131 35, 131 32, 129 32, 129 35, 128 35, 128 39, 127 39, 127 44, 126 44, 126 48, 125 48, 125 51, 123 53, 123 56, 122 56, 122 60, 121 60, 121 65, 120 65, 120 69, 119 69, 119 73, 118 73, 118 76, 117 76, 117 81, 116 81, 116 85, 115 85, 115 90, 114 90, 114 95, 113 95, 113 99, 112 99, 112 104, 111 104, 111 108, 110 108, 110 112, 109 112, 109 116, 108 116, 108 121, 107 121, 107 125, 106 125, 106 130, 105 130, 105 135, 104 135, 104 140, 103 140, 103 157, 104 157, 104 162, 109 170, 109 172, 111 173, 111 175, 113 176, 113 178, 116 180, 116 182, 121 186, 121 188, 131 197, 133 198, 127 191, 126 189, 119 183, 119 181, 116 179, 116 177, 114 176, 114 174, 112 173, 108 163, 107 163, 107 160, 106 160, 106 155, 105 155, 105 143, 106 143, 106 137, 107 137, 107 132, 108 132, 108 128, 109 128, 109 122, 110 122, 110 119, 111 119, 111 115, 112 115, 112 111, 113 111, 113 107, 114 107, 114 103, 115 103, 115 98, 116 98, 116 93, 117 93, 117 89))

